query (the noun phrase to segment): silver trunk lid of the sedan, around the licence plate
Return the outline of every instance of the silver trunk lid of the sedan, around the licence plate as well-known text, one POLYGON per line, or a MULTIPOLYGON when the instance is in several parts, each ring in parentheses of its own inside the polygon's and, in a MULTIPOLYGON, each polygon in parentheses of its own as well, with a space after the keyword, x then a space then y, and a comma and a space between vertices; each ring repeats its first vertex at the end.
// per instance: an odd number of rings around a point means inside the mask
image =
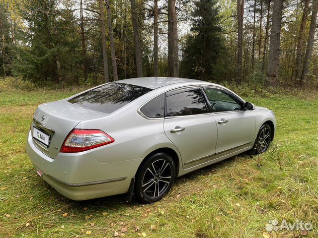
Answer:
POLYGON ((36 109, 31 124, 34 144, 44 154, 55 159, 67 135, 80 121, 106 115, 108 114, 80 107, 67 100, 41 104, 36 109), (33 137, 34 127, 49 135, 48 146, 33 137))

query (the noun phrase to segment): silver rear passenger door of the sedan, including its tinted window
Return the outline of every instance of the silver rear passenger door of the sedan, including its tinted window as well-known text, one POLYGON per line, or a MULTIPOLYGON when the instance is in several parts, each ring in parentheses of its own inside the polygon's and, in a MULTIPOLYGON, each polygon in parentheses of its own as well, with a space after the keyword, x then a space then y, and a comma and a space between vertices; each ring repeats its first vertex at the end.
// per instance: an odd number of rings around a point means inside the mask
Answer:
POLYGON ((166 93, 164 131, 179 150, 183 168, 204 163, 214 155, 216 122, 199 87, 166 93))

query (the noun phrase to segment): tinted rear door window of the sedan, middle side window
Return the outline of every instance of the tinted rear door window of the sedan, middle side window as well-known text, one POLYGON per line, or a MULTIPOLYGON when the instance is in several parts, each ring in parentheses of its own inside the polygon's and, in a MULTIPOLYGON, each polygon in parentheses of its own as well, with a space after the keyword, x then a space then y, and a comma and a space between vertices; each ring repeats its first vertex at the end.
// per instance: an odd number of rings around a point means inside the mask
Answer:
POLYGON ((167 93, 166 117, 187 116, 207 113, 200 89, 188 89, 167 93))

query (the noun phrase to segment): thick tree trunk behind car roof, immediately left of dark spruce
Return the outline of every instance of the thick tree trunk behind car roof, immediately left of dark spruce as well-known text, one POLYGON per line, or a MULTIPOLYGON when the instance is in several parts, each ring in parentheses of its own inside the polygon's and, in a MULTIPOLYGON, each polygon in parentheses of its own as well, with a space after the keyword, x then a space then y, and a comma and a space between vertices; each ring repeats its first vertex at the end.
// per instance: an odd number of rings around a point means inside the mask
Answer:
POLYGON ((168 75, 179 76, 178 27, 175 0, 168 0, 168 75))

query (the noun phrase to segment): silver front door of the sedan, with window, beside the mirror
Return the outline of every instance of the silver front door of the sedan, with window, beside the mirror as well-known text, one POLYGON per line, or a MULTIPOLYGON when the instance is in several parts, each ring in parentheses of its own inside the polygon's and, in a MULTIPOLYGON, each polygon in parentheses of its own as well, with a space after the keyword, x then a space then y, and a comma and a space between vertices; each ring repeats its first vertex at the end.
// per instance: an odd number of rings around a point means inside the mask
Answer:
POLYGON ((217 122, 218 142, 215 153, 249 147, 254 140, 254 112, 244 110, 243 103, 231 92, 217 87, 204 86, 217 122))

